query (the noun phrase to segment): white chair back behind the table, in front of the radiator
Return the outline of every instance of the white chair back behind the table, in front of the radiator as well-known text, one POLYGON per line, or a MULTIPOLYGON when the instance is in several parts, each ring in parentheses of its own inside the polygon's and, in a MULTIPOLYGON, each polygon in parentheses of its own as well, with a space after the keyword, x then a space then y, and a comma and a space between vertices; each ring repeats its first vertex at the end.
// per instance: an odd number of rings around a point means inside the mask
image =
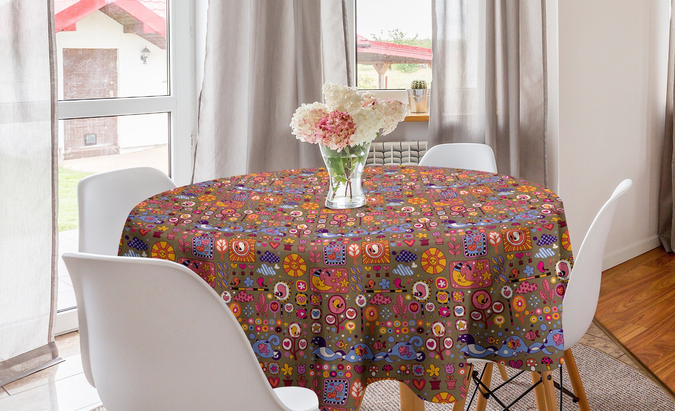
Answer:
POLYGON ((495 153, 487 144, 439 144, 427 150, 419 165, 464 168, 497 174, 495 153))

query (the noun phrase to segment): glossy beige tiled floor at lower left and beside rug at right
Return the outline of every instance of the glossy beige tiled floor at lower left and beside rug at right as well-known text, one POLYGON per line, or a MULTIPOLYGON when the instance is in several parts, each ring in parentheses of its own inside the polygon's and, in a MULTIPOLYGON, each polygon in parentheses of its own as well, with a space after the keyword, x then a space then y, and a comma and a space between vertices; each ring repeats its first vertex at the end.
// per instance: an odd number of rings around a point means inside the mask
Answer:
MULTIPOLYGON (((80 336, 77 331, 56 338, 60 364, 0 387, 0 410, 3 411, 88 411, 101 405, 96 389, 82 372, 80 336)), ((640 371, 603 332, 591 325, 580 341, 618 358, 640 371)))

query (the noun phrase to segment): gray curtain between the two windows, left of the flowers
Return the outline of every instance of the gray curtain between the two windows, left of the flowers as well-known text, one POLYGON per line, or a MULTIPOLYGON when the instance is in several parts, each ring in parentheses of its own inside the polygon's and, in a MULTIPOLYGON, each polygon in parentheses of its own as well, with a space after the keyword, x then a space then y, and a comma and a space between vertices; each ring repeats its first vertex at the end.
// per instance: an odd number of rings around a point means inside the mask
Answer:
POLYGON ((290 133, 321 101, 323 82, 349 84, 344 0, 209 4, 193 181, 323 164, 290 133))

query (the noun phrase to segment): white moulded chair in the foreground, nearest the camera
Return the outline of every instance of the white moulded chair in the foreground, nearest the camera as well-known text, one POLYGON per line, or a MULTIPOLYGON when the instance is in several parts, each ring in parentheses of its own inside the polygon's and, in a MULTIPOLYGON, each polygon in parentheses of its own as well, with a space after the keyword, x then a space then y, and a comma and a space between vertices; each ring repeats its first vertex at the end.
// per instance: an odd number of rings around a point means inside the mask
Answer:
POLYGON ((188 268, 86 253, 63 261, 86 323, 87 379, 107 410, 319 410, 311 389, 271 388, 223 298, 188 268))

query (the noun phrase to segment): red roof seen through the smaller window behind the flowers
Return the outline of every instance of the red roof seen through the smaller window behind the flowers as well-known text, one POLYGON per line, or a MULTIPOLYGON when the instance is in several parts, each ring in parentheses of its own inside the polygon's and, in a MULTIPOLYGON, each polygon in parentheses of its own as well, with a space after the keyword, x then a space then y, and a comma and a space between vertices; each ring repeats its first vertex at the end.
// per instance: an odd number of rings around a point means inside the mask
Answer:
POLYGON ((368 40, 356 34, 356 51, 362 53, 359 63, 431 63, 431 49, 406 44, 368 40))

